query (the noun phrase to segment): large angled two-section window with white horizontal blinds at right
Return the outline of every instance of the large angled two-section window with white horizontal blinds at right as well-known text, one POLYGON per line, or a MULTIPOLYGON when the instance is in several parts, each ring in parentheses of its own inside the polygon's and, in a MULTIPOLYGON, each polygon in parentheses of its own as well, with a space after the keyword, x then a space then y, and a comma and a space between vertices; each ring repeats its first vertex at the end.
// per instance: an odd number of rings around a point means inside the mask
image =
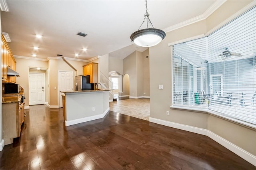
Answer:
POLYGON ((208 37, 172 46, 173 105, 256 124, 256 7, 208 37))

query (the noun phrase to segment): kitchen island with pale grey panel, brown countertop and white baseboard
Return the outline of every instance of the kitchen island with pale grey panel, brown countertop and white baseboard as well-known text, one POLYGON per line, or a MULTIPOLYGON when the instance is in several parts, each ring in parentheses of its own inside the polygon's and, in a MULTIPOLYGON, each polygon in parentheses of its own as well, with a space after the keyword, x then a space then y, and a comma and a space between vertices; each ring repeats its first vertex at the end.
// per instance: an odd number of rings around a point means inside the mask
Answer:
POLYGON ((108 89, 61 91, 65 126, 101 119, 109 111, 108 89))

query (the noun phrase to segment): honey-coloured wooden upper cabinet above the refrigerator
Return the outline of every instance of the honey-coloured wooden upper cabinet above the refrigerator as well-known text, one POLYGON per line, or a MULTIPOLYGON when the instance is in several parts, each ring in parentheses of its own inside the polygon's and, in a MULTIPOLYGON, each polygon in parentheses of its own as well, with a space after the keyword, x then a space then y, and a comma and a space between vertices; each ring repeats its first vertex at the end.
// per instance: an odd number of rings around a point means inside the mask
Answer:
POLYGON ((84 65, 83 75, 90 75, 90 83, 98 83, 98 63, 84 65))

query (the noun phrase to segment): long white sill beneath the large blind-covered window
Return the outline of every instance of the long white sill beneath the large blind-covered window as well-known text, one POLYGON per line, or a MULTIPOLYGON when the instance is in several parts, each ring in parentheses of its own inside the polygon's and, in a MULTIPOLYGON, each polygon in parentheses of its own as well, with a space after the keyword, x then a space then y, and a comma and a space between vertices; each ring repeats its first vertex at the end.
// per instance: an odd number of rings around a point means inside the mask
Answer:
POLYGON ((238 119, 234 119, 232 117, 225 116, 223 113, 212 111, 212 110, 210 110, 208 108, 205 108, 205 107, 196 107, 195 108, 195 107, 184 107, 184 106, 180 106, 180 105, 172 105, 172 106, 170 106, 170 109, 192 111, 192 112, 197 112, 197 113, 198 112, 199 113, 208 113, 209 115, 219 117, 221 119, 230 121, 232 123, 241 125, 241 126, 246 127, 246 128, 250 128, 252 130, 256 130, 256 125, 254 125, 252 123, 247 123, 247 122, 244 122, 244 121, 240 121, 238 119))

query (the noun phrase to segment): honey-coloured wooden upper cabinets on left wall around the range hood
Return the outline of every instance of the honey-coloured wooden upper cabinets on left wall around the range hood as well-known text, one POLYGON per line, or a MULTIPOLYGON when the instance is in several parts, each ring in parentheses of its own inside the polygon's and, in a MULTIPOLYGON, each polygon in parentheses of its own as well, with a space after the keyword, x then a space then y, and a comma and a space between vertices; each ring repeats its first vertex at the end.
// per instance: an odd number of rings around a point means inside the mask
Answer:
POLYGON ((7 77, 7 67, 16 71, 16 61, 12 55, 12 51, 8 46, 8 43, 4 39, 2 34, 1 36, 1 46, 2 46, 2 82, 15 83, 16 77, 7 77))

